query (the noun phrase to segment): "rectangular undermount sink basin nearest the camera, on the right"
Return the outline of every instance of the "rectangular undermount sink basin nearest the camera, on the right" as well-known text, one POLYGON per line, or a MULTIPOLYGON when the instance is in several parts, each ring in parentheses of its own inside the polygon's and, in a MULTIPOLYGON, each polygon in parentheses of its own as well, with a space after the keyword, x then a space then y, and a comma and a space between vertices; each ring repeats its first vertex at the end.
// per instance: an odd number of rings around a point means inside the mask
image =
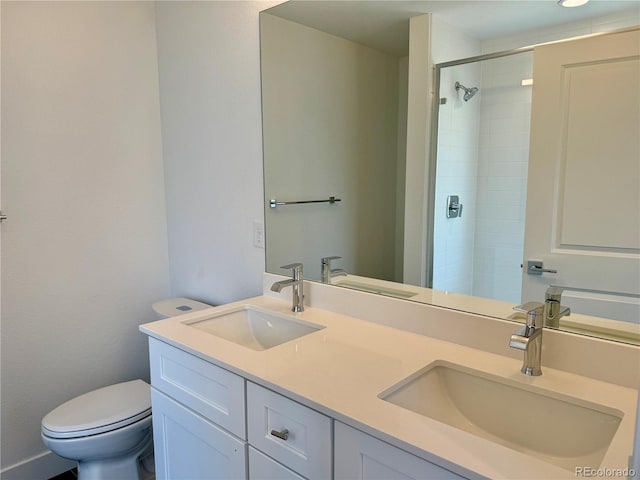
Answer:
POLYGON ((613 408, 443 361, 379 397, 572 472, 600 465, 623 417, 613 408))

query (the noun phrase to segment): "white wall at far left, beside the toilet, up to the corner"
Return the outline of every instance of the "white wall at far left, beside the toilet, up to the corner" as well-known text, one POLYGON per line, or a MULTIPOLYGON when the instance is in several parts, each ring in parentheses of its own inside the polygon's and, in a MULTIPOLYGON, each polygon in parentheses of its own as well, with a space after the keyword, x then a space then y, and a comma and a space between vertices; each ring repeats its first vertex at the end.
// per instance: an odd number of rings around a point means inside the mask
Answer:
POLYGON ((154 8, 1 8, 2 477, 47 478, 42 417, 147 378, 169 294, 154 8))

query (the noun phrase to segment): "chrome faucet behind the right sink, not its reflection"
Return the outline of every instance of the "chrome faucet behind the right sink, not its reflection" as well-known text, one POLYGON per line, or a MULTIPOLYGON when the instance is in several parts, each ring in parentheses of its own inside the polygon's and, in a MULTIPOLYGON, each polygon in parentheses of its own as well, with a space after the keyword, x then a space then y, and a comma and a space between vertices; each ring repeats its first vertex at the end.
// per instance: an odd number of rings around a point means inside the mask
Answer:
MULTIPOLYGON (((540 302, 528 302, 513 307, 517 312, 527 314, 527 323, 511 335, 509 346, 524 352, 524 360, 520 371, 525 375, 542 375, 540 361, 542 359, 542 325, 539 325, 538 317, 544 314, 545 304, 540 302)), ((540 322, 541 323, 541 322, 540 322)))

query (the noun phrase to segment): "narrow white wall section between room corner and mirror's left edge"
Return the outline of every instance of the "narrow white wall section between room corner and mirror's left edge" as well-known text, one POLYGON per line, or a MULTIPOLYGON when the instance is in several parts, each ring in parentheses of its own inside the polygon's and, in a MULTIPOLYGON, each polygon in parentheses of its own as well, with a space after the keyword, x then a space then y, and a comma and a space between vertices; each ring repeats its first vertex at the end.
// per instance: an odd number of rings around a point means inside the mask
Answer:
POLYGON ((261 293, 258 12, 270 2, 156 4, 171 292, 261 293))

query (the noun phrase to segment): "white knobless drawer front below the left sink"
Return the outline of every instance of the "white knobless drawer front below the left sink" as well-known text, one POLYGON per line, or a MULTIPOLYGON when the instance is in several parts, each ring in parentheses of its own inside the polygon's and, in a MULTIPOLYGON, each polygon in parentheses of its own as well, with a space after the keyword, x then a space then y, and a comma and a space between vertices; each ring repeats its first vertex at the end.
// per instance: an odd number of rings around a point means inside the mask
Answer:
POLYGON ((151 384, 246 439, 244 379, 194 355, 149 338, 151 384))

